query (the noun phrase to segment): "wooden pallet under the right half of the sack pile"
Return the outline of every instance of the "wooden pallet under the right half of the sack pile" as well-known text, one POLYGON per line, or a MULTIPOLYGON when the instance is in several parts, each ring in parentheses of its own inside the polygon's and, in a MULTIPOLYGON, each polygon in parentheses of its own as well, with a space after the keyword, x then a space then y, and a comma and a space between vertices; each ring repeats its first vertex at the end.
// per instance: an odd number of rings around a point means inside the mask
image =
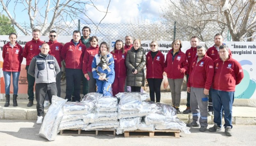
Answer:
POLYGON ((125 131, 124 137, 180 138, 180 130, 125 131))

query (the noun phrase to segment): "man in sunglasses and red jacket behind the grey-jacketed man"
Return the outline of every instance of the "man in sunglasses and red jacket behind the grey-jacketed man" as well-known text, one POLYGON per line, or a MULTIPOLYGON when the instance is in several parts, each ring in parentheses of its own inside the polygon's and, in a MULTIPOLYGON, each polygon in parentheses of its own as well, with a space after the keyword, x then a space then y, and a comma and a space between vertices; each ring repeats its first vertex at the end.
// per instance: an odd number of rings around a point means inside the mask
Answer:
MULTIPOLYGON (((49 33, 49 42, 48 45, 50 46, 49 54, 54 56, 61 68, 61 59, 60 53, 61 49, 63 48, 63 45, 57 41, 57 33, 54 30, 51 30, 49 33)), ((61 70, 61 69, 60 69, 61 70)), ((61 80, 61 71, 56 75, 56 86, 57 86, 57 96, 60 97, 60 80, 61 80)))

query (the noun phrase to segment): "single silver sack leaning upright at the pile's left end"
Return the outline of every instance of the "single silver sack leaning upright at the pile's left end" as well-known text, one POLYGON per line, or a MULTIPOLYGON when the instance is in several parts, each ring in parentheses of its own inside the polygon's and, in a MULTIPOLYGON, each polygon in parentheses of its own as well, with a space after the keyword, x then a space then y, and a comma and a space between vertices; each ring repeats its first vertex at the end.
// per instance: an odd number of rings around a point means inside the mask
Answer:
POLYGON ((52 96, 52 104, 50 105, 47 114, 44 117, 41 125, 39 136, 54 141, 59 133, 59 125, 63 118, 62 107, 67 100, 64 100, 57 96, 52 96))

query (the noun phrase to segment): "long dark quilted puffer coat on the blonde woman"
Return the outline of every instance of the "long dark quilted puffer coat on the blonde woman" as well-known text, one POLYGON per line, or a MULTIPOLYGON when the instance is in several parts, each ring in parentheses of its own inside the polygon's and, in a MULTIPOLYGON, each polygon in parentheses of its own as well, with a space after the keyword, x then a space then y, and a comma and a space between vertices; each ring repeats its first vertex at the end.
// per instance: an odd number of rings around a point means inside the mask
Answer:
POLYGON ((145 82, 144 66, 146 55, 142 47, 135 51, 134 47, 127 52, 125 64, 127 67, 127 86, 143 87, 145 82), (137 69, 138 73, 133 74, 132 70, 137 69))

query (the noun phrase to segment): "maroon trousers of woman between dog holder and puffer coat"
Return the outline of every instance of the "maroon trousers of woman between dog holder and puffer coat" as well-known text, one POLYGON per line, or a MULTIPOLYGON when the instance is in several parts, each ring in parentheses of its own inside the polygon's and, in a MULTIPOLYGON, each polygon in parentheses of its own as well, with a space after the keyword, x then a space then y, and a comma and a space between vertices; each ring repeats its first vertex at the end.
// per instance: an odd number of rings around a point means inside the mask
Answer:
POLYGON ((126 77, 115 77, 112 84, 112 93, 113 96, 116 96, 119 92, 124 92, 124 84, 126 77))

